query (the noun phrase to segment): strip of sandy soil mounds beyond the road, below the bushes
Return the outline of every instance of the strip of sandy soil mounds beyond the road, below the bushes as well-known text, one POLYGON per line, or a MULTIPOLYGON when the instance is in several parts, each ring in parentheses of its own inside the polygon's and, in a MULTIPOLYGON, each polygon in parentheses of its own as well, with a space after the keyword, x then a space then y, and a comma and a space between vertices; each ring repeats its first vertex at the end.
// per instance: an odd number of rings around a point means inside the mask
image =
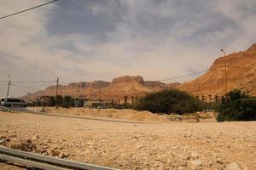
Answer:
MULTIPOLYGON (((42 108, 30 108, 33 111, 41 111, 42 108)), ((49 107, 46 113, 54 113, 64 116, 85 116, 85 117, 104 117, 113 119, 129 120, 133 122, 216 122, 217 113, 198 112, 195 114, 179 115, 157 115, 149 111, 135 111, 131 109, 89 109, 89 108, 59 108, 49 107)))

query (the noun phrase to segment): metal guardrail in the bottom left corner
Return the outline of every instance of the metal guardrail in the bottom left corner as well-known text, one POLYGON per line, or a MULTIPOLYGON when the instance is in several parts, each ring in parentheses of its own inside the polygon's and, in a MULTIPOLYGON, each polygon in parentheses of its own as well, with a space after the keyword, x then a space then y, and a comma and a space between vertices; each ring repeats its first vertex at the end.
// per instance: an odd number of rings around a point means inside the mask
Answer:
POLYGON ((110 167, 96 166, 78 161, 63 160, 60 158, 42 156, 21 150, 9 149, 0 145, 0 160, 16 162, 28 167, 47 170, 86 169, 86 170, 113 170, 110 167))

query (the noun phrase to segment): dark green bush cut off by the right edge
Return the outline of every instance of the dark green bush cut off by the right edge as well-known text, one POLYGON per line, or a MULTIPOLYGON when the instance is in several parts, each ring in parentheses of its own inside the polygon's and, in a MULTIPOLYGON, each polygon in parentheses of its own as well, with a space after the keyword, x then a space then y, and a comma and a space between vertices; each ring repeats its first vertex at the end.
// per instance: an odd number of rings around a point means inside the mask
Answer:
POLYGON ((256 121, 256 99, 233 90, 222 99, 218 122, 224 121, 256 121))

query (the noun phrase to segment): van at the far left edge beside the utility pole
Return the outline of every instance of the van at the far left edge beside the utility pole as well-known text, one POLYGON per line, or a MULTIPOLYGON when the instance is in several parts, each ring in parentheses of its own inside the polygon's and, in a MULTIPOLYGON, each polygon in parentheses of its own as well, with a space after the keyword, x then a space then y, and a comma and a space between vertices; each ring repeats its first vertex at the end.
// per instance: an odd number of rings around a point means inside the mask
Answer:
POLYGON ((26 107, 27 105, 24 99, 10 97, 2 98, 0 104, 5 107, 26 107))

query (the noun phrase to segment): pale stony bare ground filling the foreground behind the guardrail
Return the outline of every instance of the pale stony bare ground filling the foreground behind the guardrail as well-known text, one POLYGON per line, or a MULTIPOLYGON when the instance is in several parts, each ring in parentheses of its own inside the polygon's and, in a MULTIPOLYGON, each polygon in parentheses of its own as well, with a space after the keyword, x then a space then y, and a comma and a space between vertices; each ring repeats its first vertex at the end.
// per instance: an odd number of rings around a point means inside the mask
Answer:
POLYGON ((256 122, 125 123, 0 112, 0 144, 119 169, 256 169, 256 122))

